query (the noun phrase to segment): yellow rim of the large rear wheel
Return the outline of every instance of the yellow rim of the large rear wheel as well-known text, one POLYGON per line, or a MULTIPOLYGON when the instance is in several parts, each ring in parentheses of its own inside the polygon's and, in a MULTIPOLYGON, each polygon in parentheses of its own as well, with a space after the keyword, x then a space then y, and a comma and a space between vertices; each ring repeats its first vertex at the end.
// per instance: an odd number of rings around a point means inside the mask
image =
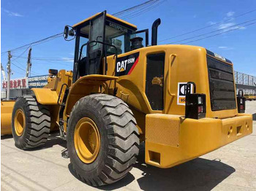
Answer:
POLYGON ((75 126, 75 151, 83 163, 92 163, 97 158, 100 136, 97 125, 88 117, 80 119, 75 126))

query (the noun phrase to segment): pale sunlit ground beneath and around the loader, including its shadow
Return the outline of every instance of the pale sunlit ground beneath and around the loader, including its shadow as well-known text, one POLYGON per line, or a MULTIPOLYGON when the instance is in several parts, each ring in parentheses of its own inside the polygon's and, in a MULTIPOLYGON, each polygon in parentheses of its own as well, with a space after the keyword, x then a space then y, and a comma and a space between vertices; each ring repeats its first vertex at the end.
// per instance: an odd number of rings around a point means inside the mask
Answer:
POLYGON ((45 148, 24 152, 12 136, 1 136, 1 190, 256 190, 256 101, 254 132, 214 152, 173 168, 144 163, 143 145, 135 168, 120 182, 94 188, 74 175, 65 141, 50 136, 45 148))

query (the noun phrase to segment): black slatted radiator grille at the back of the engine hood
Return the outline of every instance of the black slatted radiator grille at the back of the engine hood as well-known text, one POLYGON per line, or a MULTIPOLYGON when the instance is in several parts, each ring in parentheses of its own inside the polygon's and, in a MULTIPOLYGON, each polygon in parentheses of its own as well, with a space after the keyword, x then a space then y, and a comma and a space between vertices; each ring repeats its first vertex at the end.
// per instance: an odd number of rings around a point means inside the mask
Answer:
POLYGON ((207 55, 211 111, 236 109, 233 67, 207 55))

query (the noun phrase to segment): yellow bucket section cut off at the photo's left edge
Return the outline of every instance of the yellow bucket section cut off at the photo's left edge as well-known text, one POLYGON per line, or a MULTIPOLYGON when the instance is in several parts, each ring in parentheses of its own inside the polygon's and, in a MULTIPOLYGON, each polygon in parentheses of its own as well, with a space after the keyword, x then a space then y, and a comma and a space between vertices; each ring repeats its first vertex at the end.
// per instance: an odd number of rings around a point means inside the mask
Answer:
POLYGON ((1 135, 12 134, 12 109, 15 101, 1 101, 1 135))

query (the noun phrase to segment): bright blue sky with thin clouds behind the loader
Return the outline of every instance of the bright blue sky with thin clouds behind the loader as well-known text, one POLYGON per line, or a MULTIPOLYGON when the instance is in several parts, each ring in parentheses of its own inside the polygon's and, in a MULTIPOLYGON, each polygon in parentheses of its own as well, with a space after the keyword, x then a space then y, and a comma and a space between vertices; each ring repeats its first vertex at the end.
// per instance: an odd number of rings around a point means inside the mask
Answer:
MULTIPOLYGON (((59 34, 65 25, 72 26, 97 12, 107 10, 113 14, 144 1, 2 0, 1 52, 59 34)), ((159 44, 184 43, 206 47, 232 61, 236 71, 256 76, 256 24, 244 26, 256 22, 256 11, 237 17, 253 9, 256 9, 255 0, 165 0, 127 21, 138 26, 139 30, 149 28, 151 36, 151 25, 159 17, 162 20, 158 29, 159 44), (198 28, 204 29, 195 31, 198 28), (195 32, 186 34, 189 31, 195 32), (203 39, 219 33, 222 34, 203 39)), ((74 40, 67 42, 61 36, 32 47, 32 57, 73 58, 74 47, 74 40)), ((12 65, 12 78, 25 76, 22 69, 26 69, 28 50, 24 50, 12 52, 12 63, 16 65, 12 65), (19 55, 24 58, 17 58, 19 55)), ((6 70, 6 53, 1 54, 1 63, 6 70)), ((32 60, 31 76, 48 74, 48 69, 72 70, 72 64, 72 61, 32 60)))

